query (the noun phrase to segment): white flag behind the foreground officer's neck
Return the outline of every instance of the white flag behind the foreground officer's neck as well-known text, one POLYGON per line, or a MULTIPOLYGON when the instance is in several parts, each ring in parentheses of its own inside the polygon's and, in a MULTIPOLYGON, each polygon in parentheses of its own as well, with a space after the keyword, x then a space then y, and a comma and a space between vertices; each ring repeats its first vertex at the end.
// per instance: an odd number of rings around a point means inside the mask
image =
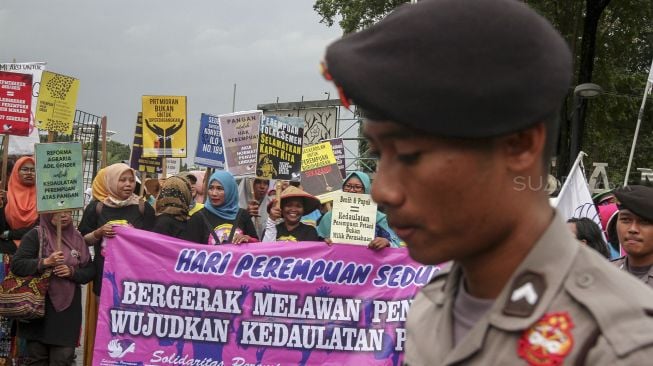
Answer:
POLYGON ((576 158, 569 172, 569 176, 567 176, 567 179, 562 185, 554 206, 565 220, 572 217, 587 217, 601 227, 599 213, 596 210, 596 206, 594 206, 592 194, 587 184, 587 178, 585 178, 583 168, 584 155, 585 153, 582 151, 578 154, 578 158, 576 158))

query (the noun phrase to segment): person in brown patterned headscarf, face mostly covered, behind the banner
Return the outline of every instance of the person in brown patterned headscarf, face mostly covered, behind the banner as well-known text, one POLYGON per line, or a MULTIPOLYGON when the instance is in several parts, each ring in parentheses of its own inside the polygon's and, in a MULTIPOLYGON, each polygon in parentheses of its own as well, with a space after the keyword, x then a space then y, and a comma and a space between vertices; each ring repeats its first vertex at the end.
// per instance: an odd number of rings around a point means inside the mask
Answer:
POLYGON ((188 210, 193 200, 190 182, 180 176, 172 176, 161 186, 156 199, 155 233, 183 238, 186 235, 188 210))

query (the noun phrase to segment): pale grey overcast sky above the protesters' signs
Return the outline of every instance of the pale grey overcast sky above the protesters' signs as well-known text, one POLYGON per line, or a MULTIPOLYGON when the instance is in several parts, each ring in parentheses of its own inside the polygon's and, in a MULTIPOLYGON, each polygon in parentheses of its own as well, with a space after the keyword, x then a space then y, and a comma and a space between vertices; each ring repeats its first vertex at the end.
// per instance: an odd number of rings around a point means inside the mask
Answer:
POLYGON ((319 63, 341 34, 309 0, 0 2, 0 63, 79 79, 77 109, 130 145, 142 95, 185 95, 193 155, 200 114, 231 112, 234 84, 236 111, 337 95, 319 63))

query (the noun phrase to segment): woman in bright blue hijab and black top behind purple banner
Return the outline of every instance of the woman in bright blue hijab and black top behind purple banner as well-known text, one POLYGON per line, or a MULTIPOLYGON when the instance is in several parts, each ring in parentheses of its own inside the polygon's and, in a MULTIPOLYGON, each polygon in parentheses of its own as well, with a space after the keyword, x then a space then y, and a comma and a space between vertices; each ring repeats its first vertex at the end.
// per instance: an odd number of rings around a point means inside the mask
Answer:
POLYGON ((217 171, 211 175, 204 208, 191 216, 186 240, 213 245, 258 241, 249 213, 238 207, 238 187, 231 173, 217 171))

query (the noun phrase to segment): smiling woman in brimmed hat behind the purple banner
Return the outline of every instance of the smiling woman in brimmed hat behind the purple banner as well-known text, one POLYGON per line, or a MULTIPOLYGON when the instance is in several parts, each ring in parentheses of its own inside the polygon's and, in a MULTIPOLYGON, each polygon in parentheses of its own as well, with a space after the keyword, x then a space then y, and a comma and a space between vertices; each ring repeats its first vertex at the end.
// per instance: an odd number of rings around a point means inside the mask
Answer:
POLYGON ((281 193, 281 207, 276 207, 275 203, 272 201, 268 205, 270 214, 263 242, 322 240, 315 227, 301 222, 304 212, 313 212, 320 207, 320 200, 297 187, 289 186, 281 193), (280 218, 283 218, 283 222, 276 224, 280 218))

